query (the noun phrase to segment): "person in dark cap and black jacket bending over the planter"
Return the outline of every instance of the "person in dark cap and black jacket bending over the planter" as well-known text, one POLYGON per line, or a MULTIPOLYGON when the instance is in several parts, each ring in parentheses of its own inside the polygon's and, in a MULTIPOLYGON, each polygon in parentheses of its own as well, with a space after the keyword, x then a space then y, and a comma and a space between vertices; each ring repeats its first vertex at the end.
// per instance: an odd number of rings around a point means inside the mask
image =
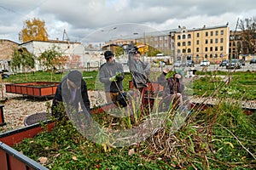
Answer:
MULTIPOLYGON (((64 117, 63 113, 70 114, 72 111, 63 111, 62 104, 72 105, 75 111, 79 111, 79 104, 84 115, 90 116, 90 99, 88 97, 87 85, 84 82, 80 71, 70 71, 63 77, 58 85, 53 103, 51 106, 52 116, 55 118, 64 117), (83 101, 83 103, 81 103, 83 101)), ((66 107, 66 110, 69 107, 66 107)))

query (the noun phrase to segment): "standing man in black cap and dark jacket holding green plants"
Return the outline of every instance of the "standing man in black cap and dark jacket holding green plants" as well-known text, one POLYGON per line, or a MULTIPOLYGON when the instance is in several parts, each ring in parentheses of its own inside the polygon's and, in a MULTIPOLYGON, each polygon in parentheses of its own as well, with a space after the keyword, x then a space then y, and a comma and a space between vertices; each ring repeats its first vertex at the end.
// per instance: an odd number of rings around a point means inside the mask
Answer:
POLYGON ((125 73, 123 65, 116 62, 112 51, 104 53, 106 63, 102 64, 99 71, 99 80, 104 84, 107 102, 115 102, 119 93, 124 91, 123 80, 125 73))

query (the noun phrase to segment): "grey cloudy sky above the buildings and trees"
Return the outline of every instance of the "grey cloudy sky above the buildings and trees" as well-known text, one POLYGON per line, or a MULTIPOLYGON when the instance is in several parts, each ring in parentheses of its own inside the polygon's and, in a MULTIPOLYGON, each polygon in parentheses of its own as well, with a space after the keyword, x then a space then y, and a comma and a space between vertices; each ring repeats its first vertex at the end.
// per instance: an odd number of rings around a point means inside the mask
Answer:
POLYGON ((0 0, 0 39, 19 42, 25 20, 45 21, 49 39, 93 42, 185 26, 236 29, 256 17, 255 0, 0 0), (67 37, 64 36, 64 39, 67 37))

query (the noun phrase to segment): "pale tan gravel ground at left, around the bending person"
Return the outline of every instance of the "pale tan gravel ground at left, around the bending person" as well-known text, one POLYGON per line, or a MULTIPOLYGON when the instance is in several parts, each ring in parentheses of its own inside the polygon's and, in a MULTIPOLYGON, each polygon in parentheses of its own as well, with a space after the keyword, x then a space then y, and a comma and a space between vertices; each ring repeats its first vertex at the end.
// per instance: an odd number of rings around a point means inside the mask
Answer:
MULTIPOLYGON (((3 119, 6 125, 0 127, 0 133, 4 133, 10 130, 14 130, 20 127, 25 127, 24 120, 26 116, 38 112, 47 112, 49 106, 52 104, 52 97, 34 98, 21 94, 5 93, 5 87, 3 85, 3 91, 0 92, 0 100, 3 105, 3 119)), ((100 105, 99 93, 89 91, 90 106, 100 105)), ((101 101, 102 102, 102 101, 101 101)))

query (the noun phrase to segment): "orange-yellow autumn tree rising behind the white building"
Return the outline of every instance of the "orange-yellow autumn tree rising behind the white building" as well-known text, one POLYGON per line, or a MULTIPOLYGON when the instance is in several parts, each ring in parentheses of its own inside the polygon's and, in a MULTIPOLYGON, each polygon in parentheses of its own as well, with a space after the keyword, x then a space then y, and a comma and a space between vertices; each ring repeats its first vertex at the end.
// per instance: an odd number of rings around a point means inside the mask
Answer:
POLYGON ((44 20, 32 19, 24 22, 23 29, 19 33, 21 42, 29 42, 31 40, 47 41, 48 33, 45 28, 44 20))

